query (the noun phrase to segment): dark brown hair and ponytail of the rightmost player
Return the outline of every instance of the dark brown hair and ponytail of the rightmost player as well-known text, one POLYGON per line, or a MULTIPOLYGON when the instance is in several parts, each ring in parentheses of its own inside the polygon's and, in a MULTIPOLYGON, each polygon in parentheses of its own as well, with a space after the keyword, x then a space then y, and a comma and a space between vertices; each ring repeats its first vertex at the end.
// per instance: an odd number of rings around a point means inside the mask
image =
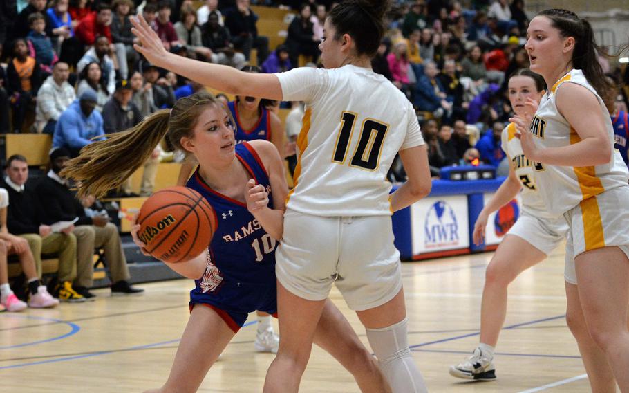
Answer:
POLYGON ((612 113, 614 102, 609 100, 609 97, 612 96, 610 90, 614 89, 614 86, 605 80, 603 68, 597 59, 597 55, 602 51, 594 40, 594 31, 590 22, 579 18, 572 11, 560 8, 544 10, 538 15, 550 19, 552 26, 559 30, 562 37, 574 37, 572 67, 583 71, 585 78, 605 102, 605 107, 612 113))

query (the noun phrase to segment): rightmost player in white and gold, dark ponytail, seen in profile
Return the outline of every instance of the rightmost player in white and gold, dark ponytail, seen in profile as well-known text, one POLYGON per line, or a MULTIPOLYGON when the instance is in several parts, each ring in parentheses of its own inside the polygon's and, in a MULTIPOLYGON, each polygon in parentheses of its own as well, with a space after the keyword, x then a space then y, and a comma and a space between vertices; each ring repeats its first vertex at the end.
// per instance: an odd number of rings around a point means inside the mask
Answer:
POLYGON ((511 121, 525 156, 544 165, 534 181, 547 212, 570 226, 567 324, 596 391, 614 392, 615 378, 629 392, 629 173, 613 148, 613 102, 601 98, 613 86, 597 62, 592 27, 574 12, 541 12, 527 36, 531 70, 550 87, 535 116, 511 121))

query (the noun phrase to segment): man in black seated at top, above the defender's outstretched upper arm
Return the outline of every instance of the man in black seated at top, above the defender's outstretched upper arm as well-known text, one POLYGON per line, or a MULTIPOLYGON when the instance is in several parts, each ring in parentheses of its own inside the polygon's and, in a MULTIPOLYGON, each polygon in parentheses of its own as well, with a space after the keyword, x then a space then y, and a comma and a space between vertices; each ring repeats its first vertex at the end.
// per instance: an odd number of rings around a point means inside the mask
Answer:
POLYGON ((256 21, 258 15, 250 8, 250 0, 236 0, 236 7, 225 11, 225 27, 232 35, 234 48, 242 51, 248 61, 251 49, 258 51, 258 64, 262 64, 269 55, 269 39, 258 35, 256 21))

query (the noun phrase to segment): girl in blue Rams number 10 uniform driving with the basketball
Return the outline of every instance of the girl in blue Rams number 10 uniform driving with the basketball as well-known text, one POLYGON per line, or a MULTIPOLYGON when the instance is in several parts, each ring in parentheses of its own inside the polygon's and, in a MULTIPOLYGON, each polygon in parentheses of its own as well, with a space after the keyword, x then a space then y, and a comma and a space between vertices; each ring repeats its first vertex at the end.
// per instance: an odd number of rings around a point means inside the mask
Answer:
MULTIPOLYGON (((166 134, 173 146, 198 161, 187 185, 212 205, 218 228, 207 251, 167 264, 196 280, 196 287, 169 378, 152 393, 196 392, 247 315, 277 311, 275 249, 288 194, 283 163, 265 140, 236 144, 232 124, 214 95, 198 92, 178 100, 172 111, 153 113, 133 129, 84 149, 64 173, 81 179, 79 194, 100 195, 142 165, 166 134)), ((138 230, 134 225, 133 239, 143 247, 138 230)), ((362 392, 390 392, 375 358, 329 300, 316 325, 317 344, 353 374, 362 392)))

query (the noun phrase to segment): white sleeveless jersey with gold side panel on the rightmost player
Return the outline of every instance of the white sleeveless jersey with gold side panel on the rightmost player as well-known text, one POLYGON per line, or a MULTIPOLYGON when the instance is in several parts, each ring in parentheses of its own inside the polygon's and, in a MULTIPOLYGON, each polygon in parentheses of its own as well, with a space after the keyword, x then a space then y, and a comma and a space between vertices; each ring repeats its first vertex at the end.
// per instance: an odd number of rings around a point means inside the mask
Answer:
POLYGON ((601 194, 606 190, 626 187, 629 172, 620 152, 614 149, 614 129, 610 114, 594 87, 585 79, 583 71, 573 69, 558 80, 543 96, 531 124, 531 132, 540 147, 562 147, 578 143, 581 138, 561 116, 556 105, 556 92, 564 83, 576 83, 596 95, 603 111, 605 128, 612 152, 609 163, 590 167, 565 167, 543 165, 535 171, 535 185, 546 204, 546 210, 557 217, 574 208, 581 201, 601 194))

